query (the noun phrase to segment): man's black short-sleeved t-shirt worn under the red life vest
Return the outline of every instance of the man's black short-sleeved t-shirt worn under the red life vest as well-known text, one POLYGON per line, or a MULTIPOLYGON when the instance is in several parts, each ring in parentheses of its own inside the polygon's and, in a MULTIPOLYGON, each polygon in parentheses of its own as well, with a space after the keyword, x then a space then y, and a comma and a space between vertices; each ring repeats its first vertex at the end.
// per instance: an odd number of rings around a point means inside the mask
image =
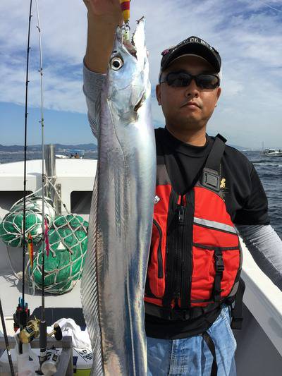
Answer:
MULTIPOLYGON (((214 138, 207 135, 204 146, 186 144, 173 137, 166 128, 155 130, 157 154, 165 154, 166 168, 176 193, 187 193, 197 182, 214 138)), ((221 159, 221 193, 234 224, 269 224, 267 198, 257 171, 244 154, 226 145, 221 159)), ((147 336, 180 339, 200 334, 207 322, 212 325, 220 309, 190 321, 171 321, 145 315, 147 336), (193 328, 193 329, 192 329, 193 328)))

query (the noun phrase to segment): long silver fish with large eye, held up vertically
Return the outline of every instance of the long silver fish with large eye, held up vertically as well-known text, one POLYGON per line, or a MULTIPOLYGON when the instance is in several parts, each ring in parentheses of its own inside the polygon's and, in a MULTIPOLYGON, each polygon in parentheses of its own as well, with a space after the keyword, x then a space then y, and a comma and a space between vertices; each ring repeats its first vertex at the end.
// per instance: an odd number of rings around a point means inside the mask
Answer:
POLYGON ((116 31, 102 88, 82 308, 92 375, 147 375, 144 291, 152 234, 156 150, 145 20, 133 44, 116 31))

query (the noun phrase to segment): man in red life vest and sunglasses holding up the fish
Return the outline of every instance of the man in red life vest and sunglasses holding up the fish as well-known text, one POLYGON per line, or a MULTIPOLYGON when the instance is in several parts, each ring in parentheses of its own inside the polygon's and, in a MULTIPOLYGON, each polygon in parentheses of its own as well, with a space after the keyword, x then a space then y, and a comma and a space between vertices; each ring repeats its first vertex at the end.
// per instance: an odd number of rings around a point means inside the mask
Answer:
MULTIPOLYGON (((119 0, 84 1, 83 90, 95 135, 99 93, 122 20, 119 0)), ((269 225, 262 183, 243 154, 225 146, 222 136, 206 134, 220 80, 219 53, 198 37, 162 53, 156 92, 166 127, 155 131, 158 182, 145 291, 152 376, 235 375, 236 343, 226 304, 233 301, 240 272, 235 226, 282 290, 282 242, 269 225)))

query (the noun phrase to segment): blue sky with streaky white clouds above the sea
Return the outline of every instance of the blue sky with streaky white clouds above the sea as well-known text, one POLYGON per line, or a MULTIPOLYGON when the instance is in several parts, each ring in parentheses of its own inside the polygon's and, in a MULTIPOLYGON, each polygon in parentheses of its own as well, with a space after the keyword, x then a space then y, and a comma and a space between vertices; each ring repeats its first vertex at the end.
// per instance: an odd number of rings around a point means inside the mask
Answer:
MULTIPOLYGON (((0 144, 23 145, 25 59, 30 1, 0 3, 0 144)), ((35 1, 34 1, 35 4, 35 1)), ((46 142, 94 142, 82 94, 87 19, 82 0, 38 0, 44 64, 46 142)), ((28 142, 41 141, 35 5, 30 51, 28 142)), ((145 16, 152 87, 160 52, 190 35, 223 61, 222 95, 208 133, 245 147, 282 147, 282 0, 131 1, 131 27, 145 16)), ((155 124, 164 124, 153 97, 155 124)))

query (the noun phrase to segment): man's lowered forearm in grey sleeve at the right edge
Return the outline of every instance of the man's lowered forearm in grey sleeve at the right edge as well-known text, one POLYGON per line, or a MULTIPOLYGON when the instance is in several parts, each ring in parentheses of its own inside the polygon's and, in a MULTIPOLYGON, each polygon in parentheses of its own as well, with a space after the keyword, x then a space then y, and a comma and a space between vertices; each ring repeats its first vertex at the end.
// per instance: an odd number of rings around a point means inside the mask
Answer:
POLYGON ((262 272, 282 291, 282 241, 270 225, 235 225, 262 272))

